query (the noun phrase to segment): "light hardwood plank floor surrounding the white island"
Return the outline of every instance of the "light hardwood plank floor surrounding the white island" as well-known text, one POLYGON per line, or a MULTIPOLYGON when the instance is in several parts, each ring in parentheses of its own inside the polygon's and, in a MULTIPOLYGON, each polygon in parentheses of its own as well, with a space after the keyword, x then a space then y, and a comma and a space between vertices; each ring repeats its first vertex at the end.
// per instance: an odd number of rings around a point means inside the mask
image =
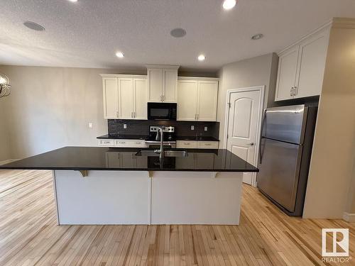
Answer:
POLYGON ((239 226, 57 226, 52 172, 3 170, 0 265, 332 265, 322 228, 349 228, 354 257, 354 223, 288 217, 243 189, 239 226))

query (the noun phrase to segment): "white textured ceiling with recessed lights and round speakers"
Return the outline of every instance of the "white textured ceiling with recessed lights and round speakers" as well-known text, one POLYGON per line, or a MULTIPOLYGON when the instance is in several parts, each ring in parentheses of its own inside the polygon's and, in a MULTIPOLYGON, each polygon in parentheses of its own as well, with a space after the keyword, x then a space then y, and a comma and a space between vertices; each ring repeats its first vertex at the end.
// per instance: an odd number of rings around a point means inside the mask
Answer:
POLYGON ((355 17, 354 0, 1 0, 0 64, 58 67, 219 67, 286 45, 334 16, 355 17), (32 31, 34 21, 44 32, 32 31), (173 38, 173 28, 185 38, 173 38), (251 35, 263 33, 261 40, 251 35), (120 60, 115 52, 124 52, 120 60), (204 53, 207 59, 197 61, 204 53))

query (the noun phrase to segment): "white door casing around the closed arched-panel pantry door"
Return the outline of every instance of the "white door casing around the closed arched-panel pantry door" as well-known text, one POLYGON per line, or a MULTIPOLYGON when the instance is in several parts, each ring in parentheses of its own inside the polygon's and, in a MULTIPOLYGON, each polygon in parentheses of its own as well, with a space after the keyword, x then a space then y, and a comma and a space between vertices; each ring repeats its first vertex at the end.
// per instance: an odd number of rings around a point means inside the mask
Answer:
MULTIPOLYGON (((263 86, 255 86, 255 87, 244 87, 244 88, 239 88, 239 89, 228 89, 226 91, 226 116, 225 116, 225 123, 224 123, 224 143, 223 147, 224 149, 227 149, 227 137, 226 135, 228 134, 228 128, 229 128, 229 99, 231 97, 232 93, 235 92, 255 92, 258 91, 260 92, 259 94, 259 111, 258 111, 258 119, 256 122, 256 141, 255 141, 255 150, 256 152, 254 153, 254 160, 253 160, 253 165, 256 165, 258 167, 258 150, 259 150, 259 145, 260 145, 260 138, 259 136, 261 135, 261 121, 262 116, 263 116, 263 107, 264 107, 264 94, 265 94, 265 85, 263 86)), ((251 185, 253 187, 256 187, 256 172, 252 173, 251 177, 251 185)))

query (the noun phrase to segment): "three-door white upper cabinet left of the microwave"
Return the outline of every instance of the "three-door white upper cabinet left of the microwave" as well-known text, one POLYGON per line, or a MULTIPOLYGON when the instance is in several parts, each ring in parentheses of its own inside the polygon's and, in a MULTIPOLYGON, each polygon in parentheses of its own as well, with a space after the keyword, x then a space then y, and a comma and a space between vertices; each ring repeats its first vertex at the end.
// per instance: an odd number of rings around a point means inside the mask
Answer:
POLYGON ((146 76, 102 74, 104 118, 147 119, 146 76))

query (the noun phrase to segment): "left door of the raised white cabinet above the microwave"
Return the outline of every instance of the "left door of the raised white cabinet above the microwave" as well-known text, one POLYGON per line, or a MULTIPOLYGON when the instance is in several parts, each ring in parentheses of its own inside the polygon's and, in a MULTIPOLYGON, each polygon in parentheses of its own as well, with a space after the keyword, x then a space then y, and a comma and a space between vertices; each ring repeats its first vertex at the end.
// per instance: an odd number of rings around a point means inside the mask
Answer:
POLYGON ((163 71, 160 68, 148 68, 149 101, 161 101, 163 96, 163 71))

